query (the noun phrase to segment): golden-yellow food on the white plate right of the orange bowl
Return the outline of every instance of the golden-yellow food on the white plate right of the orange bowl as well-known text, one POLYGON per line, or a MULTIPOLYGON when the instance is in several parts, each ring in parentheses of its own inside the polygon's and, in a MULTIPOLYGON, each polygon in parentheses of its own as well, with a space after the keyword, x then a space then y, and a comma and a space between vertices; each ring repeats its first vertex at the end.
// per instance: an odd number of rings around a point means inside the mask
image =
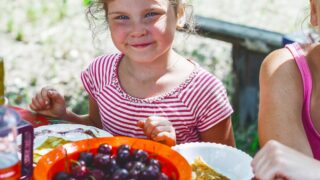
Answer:
POLYGON ((194 180, 228 180, 226 176, 216 172, 211 168, 201 156, 195 158, 194 162, 191 164, 192 171, 195 173, 196 177, 194 180))

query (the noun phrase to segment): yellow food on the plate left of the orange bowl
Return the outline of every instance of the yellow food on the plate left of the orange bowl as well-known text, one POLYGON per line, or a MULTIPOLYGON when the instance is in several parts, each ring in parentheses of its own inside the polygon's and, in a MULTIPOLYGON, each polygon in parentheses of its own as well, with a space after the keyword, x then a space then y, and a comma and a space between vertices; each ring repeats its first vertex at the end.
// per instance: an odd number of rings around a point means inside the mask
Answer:
POLYGON ((60 137, 48 136, 48 138, 33 151, 33 163, 36 164, 40 158, 53 150, 54 148, 67 144, 71 141, 65 140, 60 137))

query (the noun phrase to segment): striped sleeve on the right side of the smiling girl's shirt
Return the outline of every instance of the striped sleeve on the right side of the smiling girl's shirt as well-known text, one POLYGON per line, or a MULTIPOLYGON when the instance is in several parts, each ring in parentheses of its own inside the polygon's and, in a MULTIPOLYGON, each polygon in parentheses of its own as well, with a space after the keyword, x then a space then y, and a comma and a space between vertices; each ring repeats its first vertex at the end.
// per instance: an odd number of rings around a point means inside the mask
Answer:
POLYGON ((203 98, 199 104, 199 118, 197 128, 199 132, 204 132, 222 120, 226 119, 233 113, 232 106, 229 102, 226 89, 222 82, 211 76, 206 86, 206 98, 203 98), (208 91, 209 89, 209 91, 208 91))

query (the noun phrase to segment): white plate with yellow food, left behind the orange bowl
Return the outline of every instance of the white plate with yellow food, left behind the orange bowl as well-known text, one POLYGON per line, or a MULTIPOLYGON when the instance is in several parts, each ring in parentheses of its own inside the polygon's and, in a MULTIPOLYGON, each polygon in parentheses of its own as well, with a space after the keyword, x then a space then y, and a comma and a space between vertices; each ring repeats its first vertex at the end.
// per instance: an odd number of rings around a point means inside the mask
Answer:
MULTIPOLYGON (((61 137, 69 141, 78 141, 94 137, 111 137, 112 135, 107 131, 80 124, 53 124, 40 126, 34 129, 33 149, 39 147, 48 136, 61 137), (86 132, 92 132, 92 135, 86 132)), ((21 135, 17 137, 17 144, 21 144, 21 135)))

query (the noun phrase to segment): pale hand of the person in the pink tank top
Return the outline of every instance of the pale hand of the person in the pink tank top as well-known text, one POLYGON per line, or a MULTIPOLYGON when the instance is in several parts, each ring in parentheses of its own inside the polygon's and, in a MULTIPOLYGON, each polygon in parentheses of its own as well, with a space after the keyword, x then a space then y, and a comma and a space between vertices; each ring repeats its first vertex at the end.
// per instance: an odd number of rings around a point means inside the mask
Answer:
POLYGON ((251 162, 255 179, 319 179, 320 162, 277 141, 268 141, 251 162))

